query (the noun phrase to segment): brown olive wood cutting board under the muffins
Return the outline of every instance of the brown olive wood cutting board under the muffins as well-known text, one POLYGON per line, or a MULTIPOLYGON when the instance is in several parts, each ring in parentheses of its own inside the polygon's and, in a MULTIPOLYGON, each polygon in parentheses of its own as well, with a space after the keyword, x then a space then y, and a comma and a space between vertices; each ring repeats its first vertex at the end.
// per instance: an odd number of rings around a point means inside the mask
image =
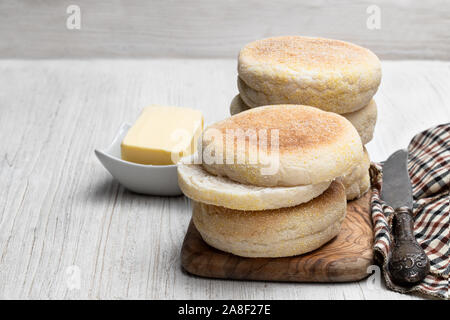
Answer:
POLYGON ((357 281, 373 264, 370 192, 347 204, 339 235, 319 249, 287 258, 243 258, 207 245, 191 221, 181 249, 181 265, 209 278, 292 281, 357 281))

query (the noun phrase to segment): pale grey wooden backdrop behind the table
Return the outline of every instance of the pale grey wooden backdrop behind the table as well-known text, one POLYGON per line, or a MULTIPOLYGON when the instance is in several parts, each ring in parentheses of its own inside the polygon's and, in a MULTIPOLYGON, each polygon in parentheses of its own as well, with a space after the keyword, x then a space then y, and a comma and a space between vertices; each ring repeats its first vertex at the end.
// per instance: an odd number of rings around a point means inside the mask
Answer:
POLYGON ((450 59, 448 0, 2 0, 0 57, 224 57, 283 34, 355 42, 382 59, 450 59), (66 8, 81 8, 81 30, 66 8), (381 29, 368 30, 370 5, 381 29))

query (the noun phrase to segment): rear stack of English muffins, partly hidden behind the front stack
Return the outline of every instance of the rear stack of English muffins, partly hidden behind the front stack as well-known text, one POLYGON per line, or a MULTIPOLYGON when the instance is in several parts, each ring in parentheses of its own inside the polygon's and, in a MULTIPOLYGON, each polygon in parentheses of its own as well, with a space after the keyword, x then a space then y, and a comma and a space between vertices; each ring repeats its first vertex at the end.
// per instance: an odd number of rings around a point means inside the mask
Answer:
MULTIPOLYGON (((246 45, 238 59, 239 94, 230 113, 265 105, 301 104, 340 114, 372 140, 377 106, 372 99, 381 81, 380 61, 370 50, 331 39, 286 36, 246 45)), ((365 157, 344 177, 347 200, 370 187, 365 157)))

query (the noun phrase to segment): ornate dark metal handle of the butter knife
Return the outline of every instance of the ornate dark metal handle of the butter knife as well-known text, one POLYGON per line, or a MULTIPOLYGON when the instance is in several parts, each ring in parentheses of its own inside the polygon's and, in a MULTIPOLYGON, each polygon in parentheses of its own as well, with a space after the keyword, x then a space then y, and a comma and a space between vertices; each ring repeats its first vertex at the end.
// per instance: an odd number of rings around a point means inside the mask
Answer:
POLYGON ((401 286, 413 286, 421 282, 430 270, 430 261, 414 237, 413 226, 409 208, 395 210, 394 245, 388 268, 392 280, 401 286))

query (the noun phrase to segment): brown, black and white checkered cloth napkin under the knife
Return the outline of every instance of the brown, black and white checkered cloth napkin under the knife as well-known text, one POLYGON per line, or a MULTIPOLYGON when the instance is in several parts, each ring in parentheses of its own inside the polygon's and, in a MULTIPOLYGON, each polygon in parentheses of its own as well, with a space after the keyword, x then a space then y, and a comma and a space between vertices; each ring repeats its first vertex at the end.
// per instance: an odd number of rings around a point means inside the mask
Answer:
POLYGON ((416 135, 409 144, 408 152, 414 198, 414 233, 430 259, 430 273, 412 288, 397 286, 389 277, 387 257, 392 242, 390 228, 394 210, 380 199, 382 166, 379 164, 372 164, 370 168, 375 255, 383 266, 386 286, 391 290, 449 299, 450 123, 416 135))

